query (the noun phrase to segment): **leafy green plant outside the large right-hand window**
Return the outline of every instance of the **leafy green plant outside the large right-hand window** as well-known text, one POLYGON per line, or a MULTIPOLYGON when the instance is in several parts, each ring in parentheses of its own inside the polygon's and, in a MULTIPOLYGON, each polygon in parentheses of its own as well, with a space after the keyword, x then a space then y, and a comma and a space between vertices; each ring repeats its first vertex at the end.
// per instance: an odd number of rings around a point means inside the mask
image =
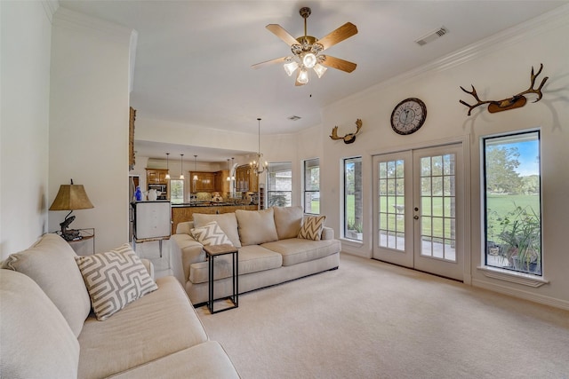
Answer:
POLYGON ((519 207, 499 218, 502 255, 514 270, 541 274, 541 221, 531 207, 519 207))

